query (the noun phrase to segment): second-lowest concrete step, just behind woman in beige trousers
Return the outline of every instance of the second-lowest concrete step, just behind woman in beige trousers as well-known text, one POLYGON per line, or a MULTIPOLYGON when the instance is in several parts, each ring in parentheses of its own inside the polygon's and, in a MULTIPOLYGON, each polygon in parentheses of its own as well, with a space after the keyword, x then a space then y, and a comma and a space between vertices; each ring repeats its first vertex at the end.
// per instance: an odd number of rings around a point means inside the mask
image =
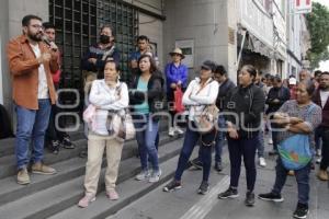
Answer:
MULTIPOLYGON (((182 139, 164 145, 159 149, 160 162, 163 162, 179 153, 182 139)), ((162 168, 162 165, 160 165, 162 168)), ((101 174, 100 191, 104 189, 103 175, 101 174)), ((133 177, 140 171, 139 159, 131 158, 122 161, 118 183, 133 177)), ((20 218, 47 218, 77 204, 83 195, 83 176, 64 182, 54 187, 25 196, 19 200, 0 207, 1 219, 20 218)))

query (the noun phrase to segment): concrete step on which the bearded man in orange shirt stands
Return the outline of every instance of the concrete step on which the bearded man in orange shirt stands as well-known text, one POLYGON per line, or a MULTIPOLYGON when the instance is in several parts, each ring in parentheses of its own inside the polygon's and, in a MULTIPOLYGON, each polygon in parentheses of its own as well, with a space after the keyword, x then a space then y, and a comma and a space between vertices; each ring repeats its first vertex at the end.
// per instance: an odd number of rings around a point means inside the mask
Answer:
MULTIPOLYGON (((159 147, 162 147, 174 139, 177 138, 170 138, 167 132, 161 132, 159 147)), ((136 141, 126 142, 122 152, 122 160, 134 157, 136 152, 136 141)), ((33 174, 31 175, 32 183, 27 186, 19 185, 15 176, 8 176, 0 180, 0 206, 84 174, 86 162, 87 159, 76 157, 55 163, 53 168, 58 171, 56 175, 43 176, 33 174)), ((104 165, 105 162, 103 162, 103 166, 104 165)))

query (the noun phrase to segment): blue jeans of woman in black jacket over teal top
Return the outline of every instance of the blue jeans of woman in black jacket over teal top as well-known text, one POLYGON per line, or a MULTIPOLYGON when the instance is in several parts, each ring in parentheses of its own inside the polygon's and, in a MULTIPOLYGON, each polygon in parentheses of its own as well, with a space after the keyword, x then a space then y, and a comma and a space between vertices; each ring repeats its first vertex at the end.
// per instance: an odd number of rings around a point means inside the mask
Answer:
POLYGON ((159 171, 158 150, 156 140, 159 131, 159 122, 154 120, 149 115, 134 115, 136 139, 143 170, 148 170, 148 160, 154 171, 159 171), (137 120, 138 119, 138 120, 137 120))

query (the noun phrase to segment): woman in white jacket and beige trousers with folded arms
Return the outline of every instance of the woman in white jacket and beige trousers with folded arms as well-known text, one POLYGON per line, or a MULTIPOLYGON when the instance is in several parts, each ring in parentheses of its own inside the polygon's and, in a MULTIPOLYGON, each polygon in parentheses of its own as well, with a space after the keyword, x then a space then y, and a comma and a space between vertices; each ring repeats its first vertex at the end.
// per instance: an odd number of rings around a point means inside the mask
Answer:
POLYGON ((112 136, 109 130, 109 114, 124 114, 128 106, 127 85, 118 81, 118 66, 113 60, 106 61, 104 67, 104 79, 92 83, 89 101, 94 105, 95 118, 93 129, 88 136, 88 161, 86 166, 84 188, 86 195, 80 199, 78 206, 86 208, 95 200, 98 183, 104 150, 106 149, 107 169, 105 172, 106 195, 115 200, 118 195, 115 191, 118 164, 122 154, 123 142, 112 136))

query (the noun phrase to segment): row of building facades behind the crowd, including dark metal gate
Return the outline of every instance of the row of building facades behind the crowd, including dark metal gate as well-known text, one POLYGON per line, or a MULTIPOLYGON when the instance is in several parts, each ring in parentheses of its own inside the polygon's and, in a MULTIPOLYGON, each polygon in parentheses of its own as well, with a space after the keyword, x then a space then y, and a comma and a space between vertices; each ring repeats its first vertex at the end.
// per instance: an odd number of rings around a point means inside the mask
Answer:
MULTIPOLYGON (((21 19, 39 15, 57 28, 63 51, 63 88, 82 88, 80 60, 98 41, 100 26, 110 23, 122 53, 123 79, 129 77, 128 55, 136 37, 147 35, 160 68, 179 46, 186 58, 190 79, 211 59, 237 70, 252 64, 265 73, 286 77, 302 68, 308 47, 305 19, 290 15, 285 0, 2 0, 0 8, 0 103, 12 113, 11 83, 5 45, 21 33, 21 19), (252 12, 252 13, 251 13, 252 12), (304 35, 303 35, 304 34, 304 35)), ((288 1, 290 2, 290 1, 288 1)))

